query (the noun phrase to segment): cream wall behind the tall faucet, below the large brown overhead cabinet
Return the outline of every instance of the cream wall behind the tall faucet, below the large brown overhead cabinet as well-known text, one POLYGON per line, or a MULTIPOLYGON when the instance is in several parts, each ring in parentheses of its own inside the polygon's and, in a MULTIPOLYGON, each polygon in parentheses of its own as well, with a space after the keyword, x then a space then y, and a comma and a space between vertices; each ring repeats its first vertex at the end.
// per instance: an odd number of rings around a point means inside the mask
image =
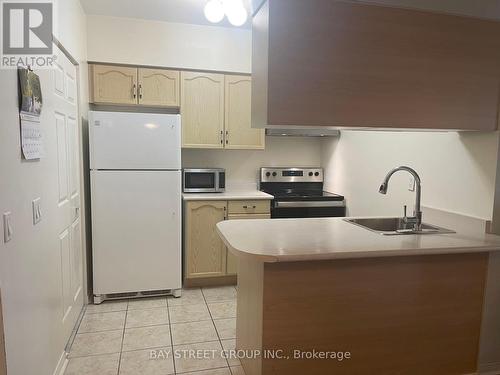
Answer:
POLYGON ((387 195, 378 193, 391 168, 408 165, 422 178, 422 204, 491 219, 497 151, 498 133, 342 131, 323 142, 322 160, 326 188, 346 196, 349 215, 413 208, 404 172, 393 176, 387 195))

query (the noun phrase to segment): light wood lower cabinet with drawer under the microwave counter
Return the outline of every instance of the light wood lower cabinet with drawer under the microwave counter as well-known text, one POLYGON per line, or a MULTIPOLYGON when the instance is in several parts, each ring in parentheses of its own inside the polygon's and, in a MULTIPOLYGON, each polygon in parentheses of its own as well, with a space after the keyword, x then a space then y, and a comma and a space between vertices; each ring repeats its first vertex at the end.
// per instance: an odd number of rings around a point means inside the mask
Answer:
POLYGON ((237 258, 227 250, 217 233, 216 224, 223 220, 270 217, 270 202, 267 200, 187 201, 184 208, 184 284, 234 283, 237 258))

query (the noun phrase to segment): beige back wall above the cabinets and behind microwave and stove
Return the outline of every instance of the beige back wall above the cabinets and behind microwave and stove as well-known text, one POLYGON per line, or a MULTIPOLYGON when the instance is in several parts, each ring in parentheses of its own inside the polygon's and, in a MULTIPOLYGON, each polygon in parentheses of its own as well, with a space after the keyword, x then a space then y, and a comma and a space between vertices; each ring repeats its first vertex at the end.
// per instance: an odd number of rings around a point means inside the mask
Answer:
MULTIPOLYGON (((87 26, 89 61, 251 71, 247 29, 105 16, 88 16, 87 26)), ((257 183, 261 166, 317 166, 320 157, 318 139, 267 137, 265 151, 185 149, 182 164, 226 168, 228 186, 248 186, 257 183)))

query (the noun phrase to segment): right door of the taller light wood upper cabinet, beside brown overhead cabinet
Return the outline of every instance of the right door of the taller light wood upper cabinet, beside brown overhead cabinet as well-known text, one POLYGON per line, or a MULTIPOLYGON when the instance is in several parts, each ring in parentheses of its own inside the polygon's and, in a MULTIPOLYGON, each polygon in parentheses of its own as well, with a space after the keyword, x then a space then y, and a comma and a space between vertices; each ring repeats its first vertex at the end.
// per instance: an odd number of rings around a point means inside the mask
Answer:
POLYGON ((225 147, 264 149, 264 129, 251 126, 252 78, 226 75, 225 90, 225 147))

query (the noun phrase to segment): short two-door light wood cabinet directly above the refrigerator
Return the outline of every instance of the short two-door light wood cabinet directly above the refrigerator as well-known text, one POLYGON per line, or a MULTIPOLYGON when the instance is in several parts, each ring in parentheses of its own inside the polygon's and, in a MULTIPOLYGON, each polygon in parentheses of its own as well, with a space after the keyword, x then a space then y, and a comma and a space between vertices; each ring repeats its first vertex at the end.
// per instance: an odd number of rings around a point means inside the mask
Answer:
POLYGON ((180 72, 90 64, 91 102, 179 107, 180 72))

